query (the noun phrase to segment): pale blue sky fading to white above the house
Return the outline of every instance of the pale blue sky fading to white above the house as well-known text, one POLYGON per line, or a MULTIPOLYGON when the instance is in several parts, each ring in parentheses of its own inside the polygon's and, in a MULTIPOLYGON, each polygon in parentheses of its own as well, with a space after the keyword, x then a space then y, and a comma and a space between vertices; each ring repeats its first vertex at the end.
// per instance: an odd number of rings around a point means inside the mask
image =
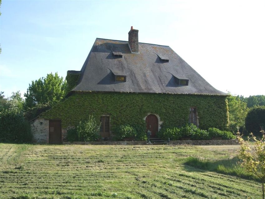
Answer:
POLYGON ((216 89, 265 95, 265 1, 7 1, 0 90, 22 95, 47 73, 80 70, 98 38, 169 45, 216 89))

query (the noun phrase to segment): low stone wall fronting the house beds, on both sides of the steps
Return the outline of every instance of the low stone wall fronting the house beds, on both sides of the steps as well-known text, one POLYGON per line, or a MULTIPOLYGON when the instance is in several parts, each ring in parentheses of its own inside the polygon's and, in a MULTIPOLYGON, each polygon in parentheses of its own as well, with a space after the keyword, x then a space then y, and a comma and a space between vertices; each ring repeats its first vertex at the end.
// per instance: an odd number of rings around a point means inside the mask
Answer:
MULTIPOLYGON (((146 145, 146 141, 95 141, 95 142, 63 142, 63 144, 80 145, 146 145)), ((237 145, 238 140, 173 140, 167 145, 237 145)))

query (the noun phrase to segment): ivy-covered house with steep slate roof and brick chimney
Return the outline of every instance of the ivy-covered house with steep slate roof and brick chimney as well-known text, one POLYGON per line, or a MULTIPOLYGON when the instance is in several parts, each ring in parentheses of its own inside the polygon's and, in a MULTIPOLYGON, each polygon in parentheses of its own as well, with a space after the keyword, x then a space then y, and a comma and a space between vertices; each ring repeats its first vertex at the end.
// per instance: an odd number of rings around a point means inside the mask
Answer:
POLYGON ((216 90, 169 46, 97 38, 80 71, 68 71, 69 93, 32 122, 34 140, 65 141, 66 129, 94 115, 100 135, 129 124, 138 132, 194 123, 225 129, 227 94, 216 90))

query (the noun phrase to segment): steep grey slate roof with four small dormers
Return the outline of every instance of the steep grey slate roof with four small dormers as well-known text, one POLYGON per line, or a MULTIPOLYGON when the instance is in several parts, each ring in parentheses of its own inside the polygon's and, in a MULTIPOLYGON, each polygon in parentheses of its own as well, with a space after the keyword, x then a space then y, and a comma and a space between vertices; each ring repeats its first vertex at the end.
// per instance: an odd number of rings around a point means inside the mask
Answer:
POLYGON ((227 95, 205 81, 169 46, 139 43, 139 54, 135 54, 127 41, 97 38, 81 72, 72 91, 227 95), (115 75, 126 75, 126 82, 116 82, 115 75), (188 79, 189 85, 178 85, 176 78, 188 79))

